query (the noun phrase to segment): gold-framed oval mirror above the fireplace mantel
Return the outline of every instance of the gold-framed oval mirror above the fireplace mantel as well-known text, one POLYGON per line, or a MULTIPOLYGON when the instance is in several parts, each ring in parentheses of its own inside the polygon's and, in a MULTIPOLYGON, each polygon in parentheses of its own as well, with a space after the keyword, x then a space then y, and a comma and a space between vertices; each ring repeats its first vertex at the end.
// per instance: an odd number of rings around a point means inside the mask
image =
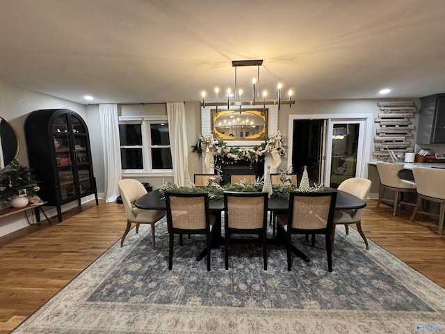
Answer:
POLYGON ((211 131, 224 141, 264 141, 268 109, 211 109, 211 131))

